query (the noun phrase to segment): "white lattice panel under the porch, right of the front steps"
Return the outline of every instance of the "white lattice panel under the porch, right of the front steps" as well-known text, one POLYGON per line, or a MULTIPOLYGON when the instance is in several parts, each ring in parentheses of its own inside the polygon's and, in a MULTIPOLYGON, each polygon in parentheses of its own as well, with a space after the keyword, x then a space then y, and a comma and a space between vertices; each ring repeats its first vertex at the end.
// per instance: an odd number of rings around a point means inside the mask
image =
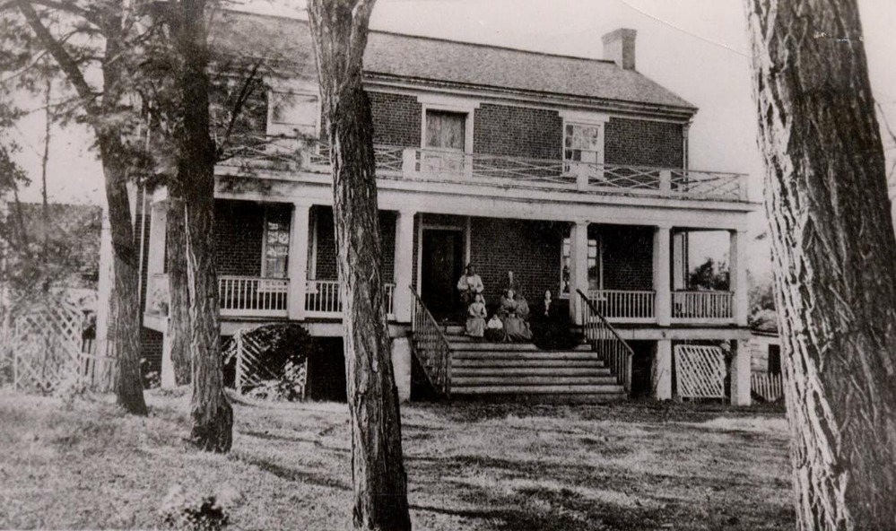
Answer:
POLYGON ((678 396, 725 397, 725 354, 718 346, 675 345, 678 396))

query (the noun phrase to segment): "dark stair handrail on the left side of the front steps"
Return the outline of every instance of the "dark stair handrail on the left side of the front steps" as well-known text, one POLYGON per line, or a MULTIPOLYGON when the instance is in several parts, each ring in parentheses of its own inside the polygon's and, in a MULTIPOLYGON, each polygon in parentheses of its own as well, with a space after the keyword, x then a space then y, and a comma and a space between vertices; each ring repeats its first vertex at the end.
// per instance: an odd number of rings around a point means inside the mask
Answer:
POLYGON ((430 309, 417 294, 413 286, 408 286, 413 295, 413 313, 411 314, 411 346, 413 353, 430 380, 432 387, 446 398, 451 397, 451 344, 448 337, 432 317, 430 309))

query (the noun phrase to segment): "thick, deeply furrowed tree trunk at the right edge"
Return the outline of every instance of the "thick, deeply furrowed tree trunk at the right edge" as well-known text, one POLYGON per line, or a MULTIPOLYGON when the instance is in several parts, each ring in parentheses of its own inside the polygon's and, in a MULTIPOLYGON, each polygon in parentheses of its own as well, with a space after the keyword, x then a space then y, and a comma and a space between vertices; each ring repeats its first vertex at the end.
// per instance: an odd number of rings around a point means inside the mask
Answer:
POLYGON ((896 527, 896 238, 855 0, 746 0, 803 529, 896 527))

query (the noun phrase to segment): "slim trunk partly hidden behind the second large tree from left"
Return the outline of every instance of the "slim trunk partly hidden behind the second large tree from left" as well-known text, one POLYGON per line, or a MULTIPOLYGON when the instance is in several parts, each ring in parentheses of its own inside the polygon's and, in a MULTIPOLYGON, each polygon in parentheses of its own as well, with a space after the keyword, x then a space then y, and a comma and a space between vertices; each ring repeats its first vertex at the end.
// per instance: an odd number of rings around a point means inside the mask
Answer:
POLYGON ((191 304, 187 283, 187 225, 184 215, 183 192, 178 187, 177 179, 170 179, 165 227, 169 286, 168 340, 174 381, 178 386, 190 383, 193 371, 190 359, 191 304))

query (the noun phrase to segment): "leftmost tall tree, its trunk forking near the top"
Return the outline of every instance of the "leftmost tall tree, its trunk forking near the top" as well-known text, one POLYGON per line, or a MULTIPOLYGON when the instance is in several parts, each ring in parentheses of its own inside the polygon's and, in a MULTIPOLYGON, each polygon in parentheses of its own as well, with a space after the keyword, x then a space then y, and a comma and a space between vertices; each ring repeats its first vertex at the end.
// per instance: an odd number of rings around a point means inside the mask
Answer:
POLYGON ((139 252, 127 196, 127 183, 134 174, 135 164, 133 150, 125 140, 128 131, 123 128, 129 111, 125 100, 127 57, 134 51, 127 40, 135 19, 126 9, 125 0, 86 7, 75 2, 15 0, 3 7, 6 10, 14 7, 21 13, 30 28, 30 39, 54 59, 74 88, 79 117, 91 126, 96 136, 106 183, 115 277, 111 304, 114 313, 110 319, 115 323, 113 352, 105 354, 117 359, 118 403, 130 413, 145 414, 139 353, 139 252), (74 22, 62 23, 60 16, 70 17, 74 22), (54 34, 51 27, 61 28, 63 32, 54 34), (91 86, 88 81, 91 67, 99 68, 99 86, 91 86))

